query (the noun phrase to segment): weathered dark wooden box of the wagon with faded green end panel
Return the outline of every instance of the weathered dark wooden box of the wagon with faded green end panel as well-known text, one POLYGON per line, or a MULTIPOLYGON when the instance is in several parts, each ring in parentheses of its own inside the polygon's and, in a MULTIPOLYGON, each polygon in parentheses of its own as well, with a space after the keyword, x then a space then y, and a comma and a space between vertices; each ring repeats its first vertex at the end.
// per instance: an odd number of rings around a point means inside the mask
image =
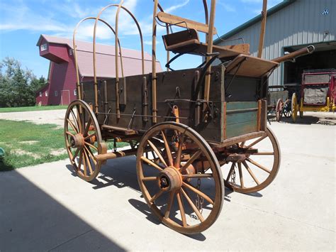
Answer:
MULTIPOLYGON (((267 83, 263 78, 225 74, 224 66, 215 66, 211 74, 210 115, 204 120, 203 85, 196 95, 201 68, 157 73, 157 122, 175 121, 173 106, 179 110, 179 122, 196 129, 213 143, 246 133, 266 130, 267 83)), ((94 82, 82 83, 84 101, 94 104, 94 82)), ((145 132, 152 124, 152 76, 119 78, 121 118, 116 116, 116 78, 98 81, 99 124, 103 127, 129 128, 145 132)))

